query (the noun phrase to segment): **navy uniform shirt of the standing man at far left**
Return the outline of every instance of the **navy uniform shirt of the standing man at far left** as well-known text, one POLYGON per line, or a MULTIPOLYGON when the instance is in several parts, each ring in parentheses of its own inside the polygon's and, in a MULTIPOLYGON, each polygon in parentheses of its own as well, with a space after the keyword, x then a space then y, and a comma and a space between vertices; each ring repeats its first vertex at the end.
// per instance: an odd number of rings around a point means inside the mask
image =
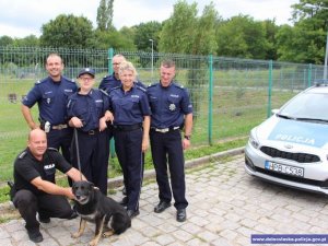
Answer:
POLYGON ((34 87, 23 98, 27 107, 38 104, 39 117, 51 125, 65 124, 67 119, 68 96, 77 92, 75 82, 61 77, 60 82, 54 82, 50 77, 35 83, 34 87))

